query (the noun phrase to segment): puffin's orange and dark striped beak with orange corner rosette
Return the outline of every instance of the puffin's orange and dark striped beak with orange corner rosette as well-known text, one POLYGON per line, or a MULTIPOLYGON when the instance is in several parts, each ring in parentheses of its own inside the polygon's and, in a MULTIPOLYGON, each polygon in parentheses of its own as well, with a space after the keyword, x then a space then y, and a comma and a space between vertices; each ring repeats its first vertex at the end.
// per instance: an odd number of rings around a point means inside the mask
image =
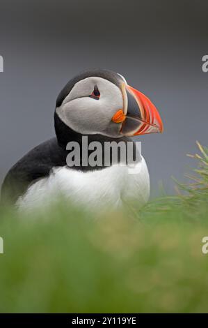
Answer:
POLYGON ((112 121, 122 122, 122 135, 145 135, 163 132, 163 122, 157 108, 140 91, 122 84, 124 110, 115 113, 112 121))

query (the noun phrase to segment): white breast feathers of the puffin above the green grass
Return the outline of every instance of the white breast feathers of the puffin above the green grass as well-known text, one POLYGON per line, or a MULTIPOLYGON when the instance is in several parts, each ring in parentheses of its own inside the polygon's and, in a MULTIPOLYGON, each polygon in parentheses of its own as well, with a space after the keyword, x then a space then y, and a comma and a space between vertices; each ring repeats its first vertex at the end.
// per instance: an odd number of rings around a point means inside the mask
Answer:
POLYGON ((119 207, 122 202, 142 205, 150 195, 150 178, 145 159, 132 166, 113 165, 103 170, 81 172, 56 167, 49 177, 40 179, 17 200, 19 209, 33 209, 50 204, 57 195, 83 204, 89 209, 119 207))

